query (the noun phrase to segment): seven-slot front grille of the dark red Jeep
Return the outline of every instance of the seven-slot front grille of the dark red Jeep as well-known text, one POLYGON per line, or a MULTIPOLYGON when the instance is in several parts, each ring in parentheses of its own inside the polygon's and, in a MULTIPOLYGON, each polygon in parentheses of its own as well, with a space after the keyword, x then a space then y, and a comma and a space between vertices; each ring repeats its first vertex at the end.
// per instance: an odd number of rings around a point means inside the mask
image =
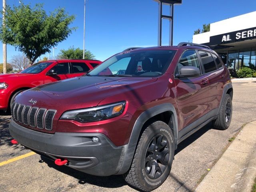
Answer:
POLYGON ((27 126, 37 127, 38 129, 52 130, 52 123, 56 110, 31 107, 29 105, 14 102, 11 106, 12 118, 27 126))

